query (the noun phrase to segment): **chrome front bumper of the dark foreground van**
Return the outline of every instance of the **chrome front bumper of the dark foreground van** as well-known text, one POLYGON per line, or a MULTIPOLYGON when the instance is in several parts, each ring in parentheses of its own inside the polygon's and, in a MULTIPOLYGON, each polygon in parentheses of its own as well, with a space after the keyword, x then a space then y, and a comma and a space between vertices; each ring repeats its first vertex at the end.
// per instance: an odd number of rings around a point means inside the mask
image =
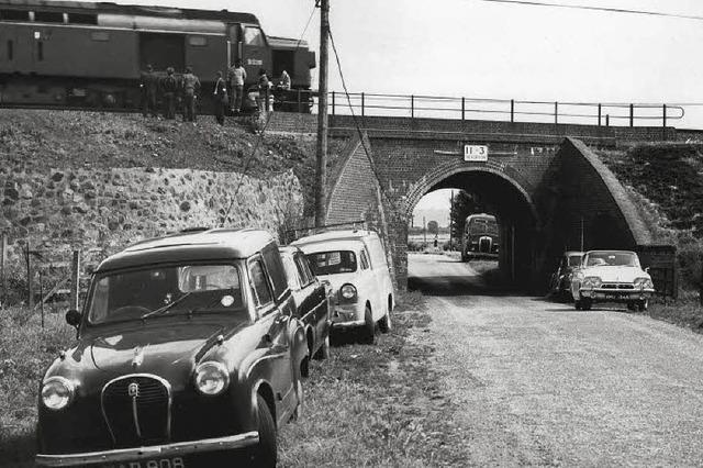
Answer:
POLYGON ((258 444, 259 433, 256 431, 226 437, 207 438, 203 441, 178 442, 175 444, 152 445, 147 447, 119 448, 104 452, 82 454, 37 455, 37 466, 70 467, 91 464, 114 464, 137 461, 152 458, 167 458, 216 450, 232 450, 258 444))

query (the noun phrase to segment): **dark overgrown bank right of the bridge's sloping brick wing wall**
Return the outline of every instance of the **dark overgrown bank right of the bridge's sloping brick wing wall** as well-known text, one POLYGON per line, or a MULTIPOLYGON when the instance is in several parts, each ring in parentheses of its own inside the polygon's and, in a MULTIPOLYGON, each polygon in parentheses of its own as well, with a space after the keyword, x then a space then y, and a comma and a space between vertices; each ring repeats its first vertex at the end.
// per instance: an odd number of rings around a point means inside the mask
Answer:
POLYGON ((599 152, 658 237, 677 246, 681 286, 698 289, 703 257, 703 145, 657 143, 599 152))

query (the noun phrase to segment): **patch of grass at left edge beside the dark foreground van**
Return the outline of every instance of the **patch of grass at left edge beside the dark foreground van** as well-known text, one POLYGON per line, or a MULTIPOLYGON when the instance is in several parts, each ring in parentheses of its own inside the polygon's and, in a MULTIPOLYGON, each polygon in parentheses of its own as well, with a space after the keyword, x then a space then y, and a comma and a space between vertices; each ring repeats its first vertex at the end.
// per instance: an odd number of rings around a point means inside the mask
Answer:
POLYGON ((63 313, 0 310, 0 466, 34 466, 36 391, 46 367, 75 338, 63 313))

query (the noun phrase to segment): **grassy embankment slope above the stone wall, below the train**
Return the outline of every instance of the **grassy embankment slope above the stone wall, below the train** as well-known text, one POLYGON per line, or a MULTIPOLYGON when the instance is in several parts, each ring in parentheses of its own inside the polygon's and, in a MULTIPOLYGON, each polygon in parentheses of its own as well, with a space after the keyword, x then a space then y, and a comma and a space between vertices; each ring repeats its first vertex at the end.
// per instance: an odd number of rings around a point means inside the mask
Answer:
MULTIPOLYGON (((0 112, 0 174, 46 168, 164 167, 242 171, 267 178, 292 170, 303 186, 305 212, 314 210, 315 140, 254 132, 249 119, 211 115, 197 124, 140 114, 74 111, 0 112), (257 146, 258 144, 258 146, 257 146), (255 156, 249 155, 257 148, 255 156)), ((330 140, 332 167, 346 141, 330 140)))

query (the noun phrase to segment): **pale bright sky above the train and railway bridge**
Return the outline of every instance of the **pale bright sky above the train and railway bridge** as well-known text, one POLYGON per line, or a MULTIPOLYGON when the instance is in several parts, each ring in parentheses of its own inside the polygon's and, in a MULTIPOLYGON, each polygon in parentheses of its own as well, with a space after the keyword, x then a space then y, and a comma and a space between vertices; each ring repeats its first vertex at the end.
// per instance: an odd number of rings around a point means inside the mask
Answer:
MULTIPOLYGON (((545 1, 703 16, 701 0, 545 1)), ((314 7, 314 0, 118 2, 250 12, 267 34, 295 38, 314 7)), ((352 92, 703 103, 702 20, 482 0, 330 3, 332 34, 352 92)), ((317 49, 319 10, 304 38, 317 49)), ((341 91, 336 64, 330 66, 330 89, 341 91)), ((670 124, 703 129, 703 105, 685 112, 670 124)))

